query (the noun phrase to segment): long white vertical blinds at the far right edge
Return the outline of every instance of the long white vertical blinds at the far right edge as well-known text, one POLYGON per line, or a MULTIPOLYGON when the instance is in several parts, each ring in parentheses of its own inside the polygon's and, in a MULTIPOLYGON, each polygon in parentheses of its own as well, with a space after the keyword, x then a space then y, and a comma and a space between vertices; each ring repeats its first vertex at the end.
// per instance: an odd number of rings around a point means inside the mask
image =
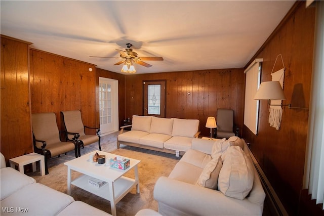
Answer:
MULTIPOLYGON (((316 204, 324 202, 324 2, 316 1, 311 99, 303 189, 316 204)), ((324 210, 324 205, 322 205, 324 210)))

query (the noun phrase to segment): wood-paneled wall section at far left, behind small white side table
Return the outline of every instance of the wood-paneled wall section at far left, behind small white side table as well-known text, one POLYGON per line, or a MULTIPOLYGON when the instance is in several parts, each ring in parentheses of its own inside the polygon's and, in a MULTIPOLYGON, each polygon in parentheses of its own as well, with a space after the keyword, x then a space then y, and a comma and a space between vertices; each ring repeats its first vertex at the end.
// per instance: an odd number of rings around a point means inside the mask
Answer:
POLYGON ((33 152, 28 80, 29 42, 1 35, 1 152, 33 152))

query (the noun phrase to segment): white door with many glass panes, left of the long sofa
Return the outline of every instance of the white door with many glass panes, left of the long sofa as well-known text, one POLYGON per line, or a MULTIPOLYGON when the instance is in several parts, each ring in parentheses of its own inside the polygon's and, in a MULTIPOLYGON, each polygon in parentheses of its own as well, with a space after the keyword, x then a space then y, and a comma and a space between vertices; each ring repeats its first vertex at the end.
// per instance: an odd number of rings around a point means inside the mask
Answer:
POLYGON ((118 131, 118 80, 99 77, 101 136, 118 131))

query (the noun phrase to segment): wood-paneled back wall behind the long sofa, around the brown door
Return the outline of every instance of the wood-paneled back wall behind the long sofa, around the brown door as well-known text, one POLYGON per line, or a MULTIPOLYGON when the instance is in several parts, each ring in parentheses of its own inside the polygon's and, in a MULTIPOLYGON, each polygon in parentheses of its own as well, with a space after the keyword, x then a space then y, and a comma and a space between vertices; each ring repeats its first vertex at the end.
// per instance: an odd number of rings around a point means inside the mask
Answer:
POLYGON ((210 129, 205 127, 207 117, 216 117, 218 108, 229 108, 234 110, 234 122, 241 131, 244 69, 126 75, 126 117, 143 114, 143 80, 163 79, 167 80, 167 118, 199 119, 201 135, 210 136, 210 129))

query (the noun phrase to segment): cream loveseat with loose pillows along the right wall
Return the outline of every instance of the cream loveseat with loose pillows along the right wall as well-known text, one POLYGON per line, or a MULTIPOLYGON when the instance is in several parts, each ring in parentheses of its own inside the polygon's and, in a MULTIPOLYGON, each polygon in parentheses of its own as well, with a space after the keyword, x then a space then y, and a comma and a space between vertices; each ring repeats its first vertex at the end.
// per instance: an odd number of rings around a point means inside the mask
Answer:
POLYGON ((154 199, 162 215, 262 215, 265 193, 244 140, 194 139, 154 199))

